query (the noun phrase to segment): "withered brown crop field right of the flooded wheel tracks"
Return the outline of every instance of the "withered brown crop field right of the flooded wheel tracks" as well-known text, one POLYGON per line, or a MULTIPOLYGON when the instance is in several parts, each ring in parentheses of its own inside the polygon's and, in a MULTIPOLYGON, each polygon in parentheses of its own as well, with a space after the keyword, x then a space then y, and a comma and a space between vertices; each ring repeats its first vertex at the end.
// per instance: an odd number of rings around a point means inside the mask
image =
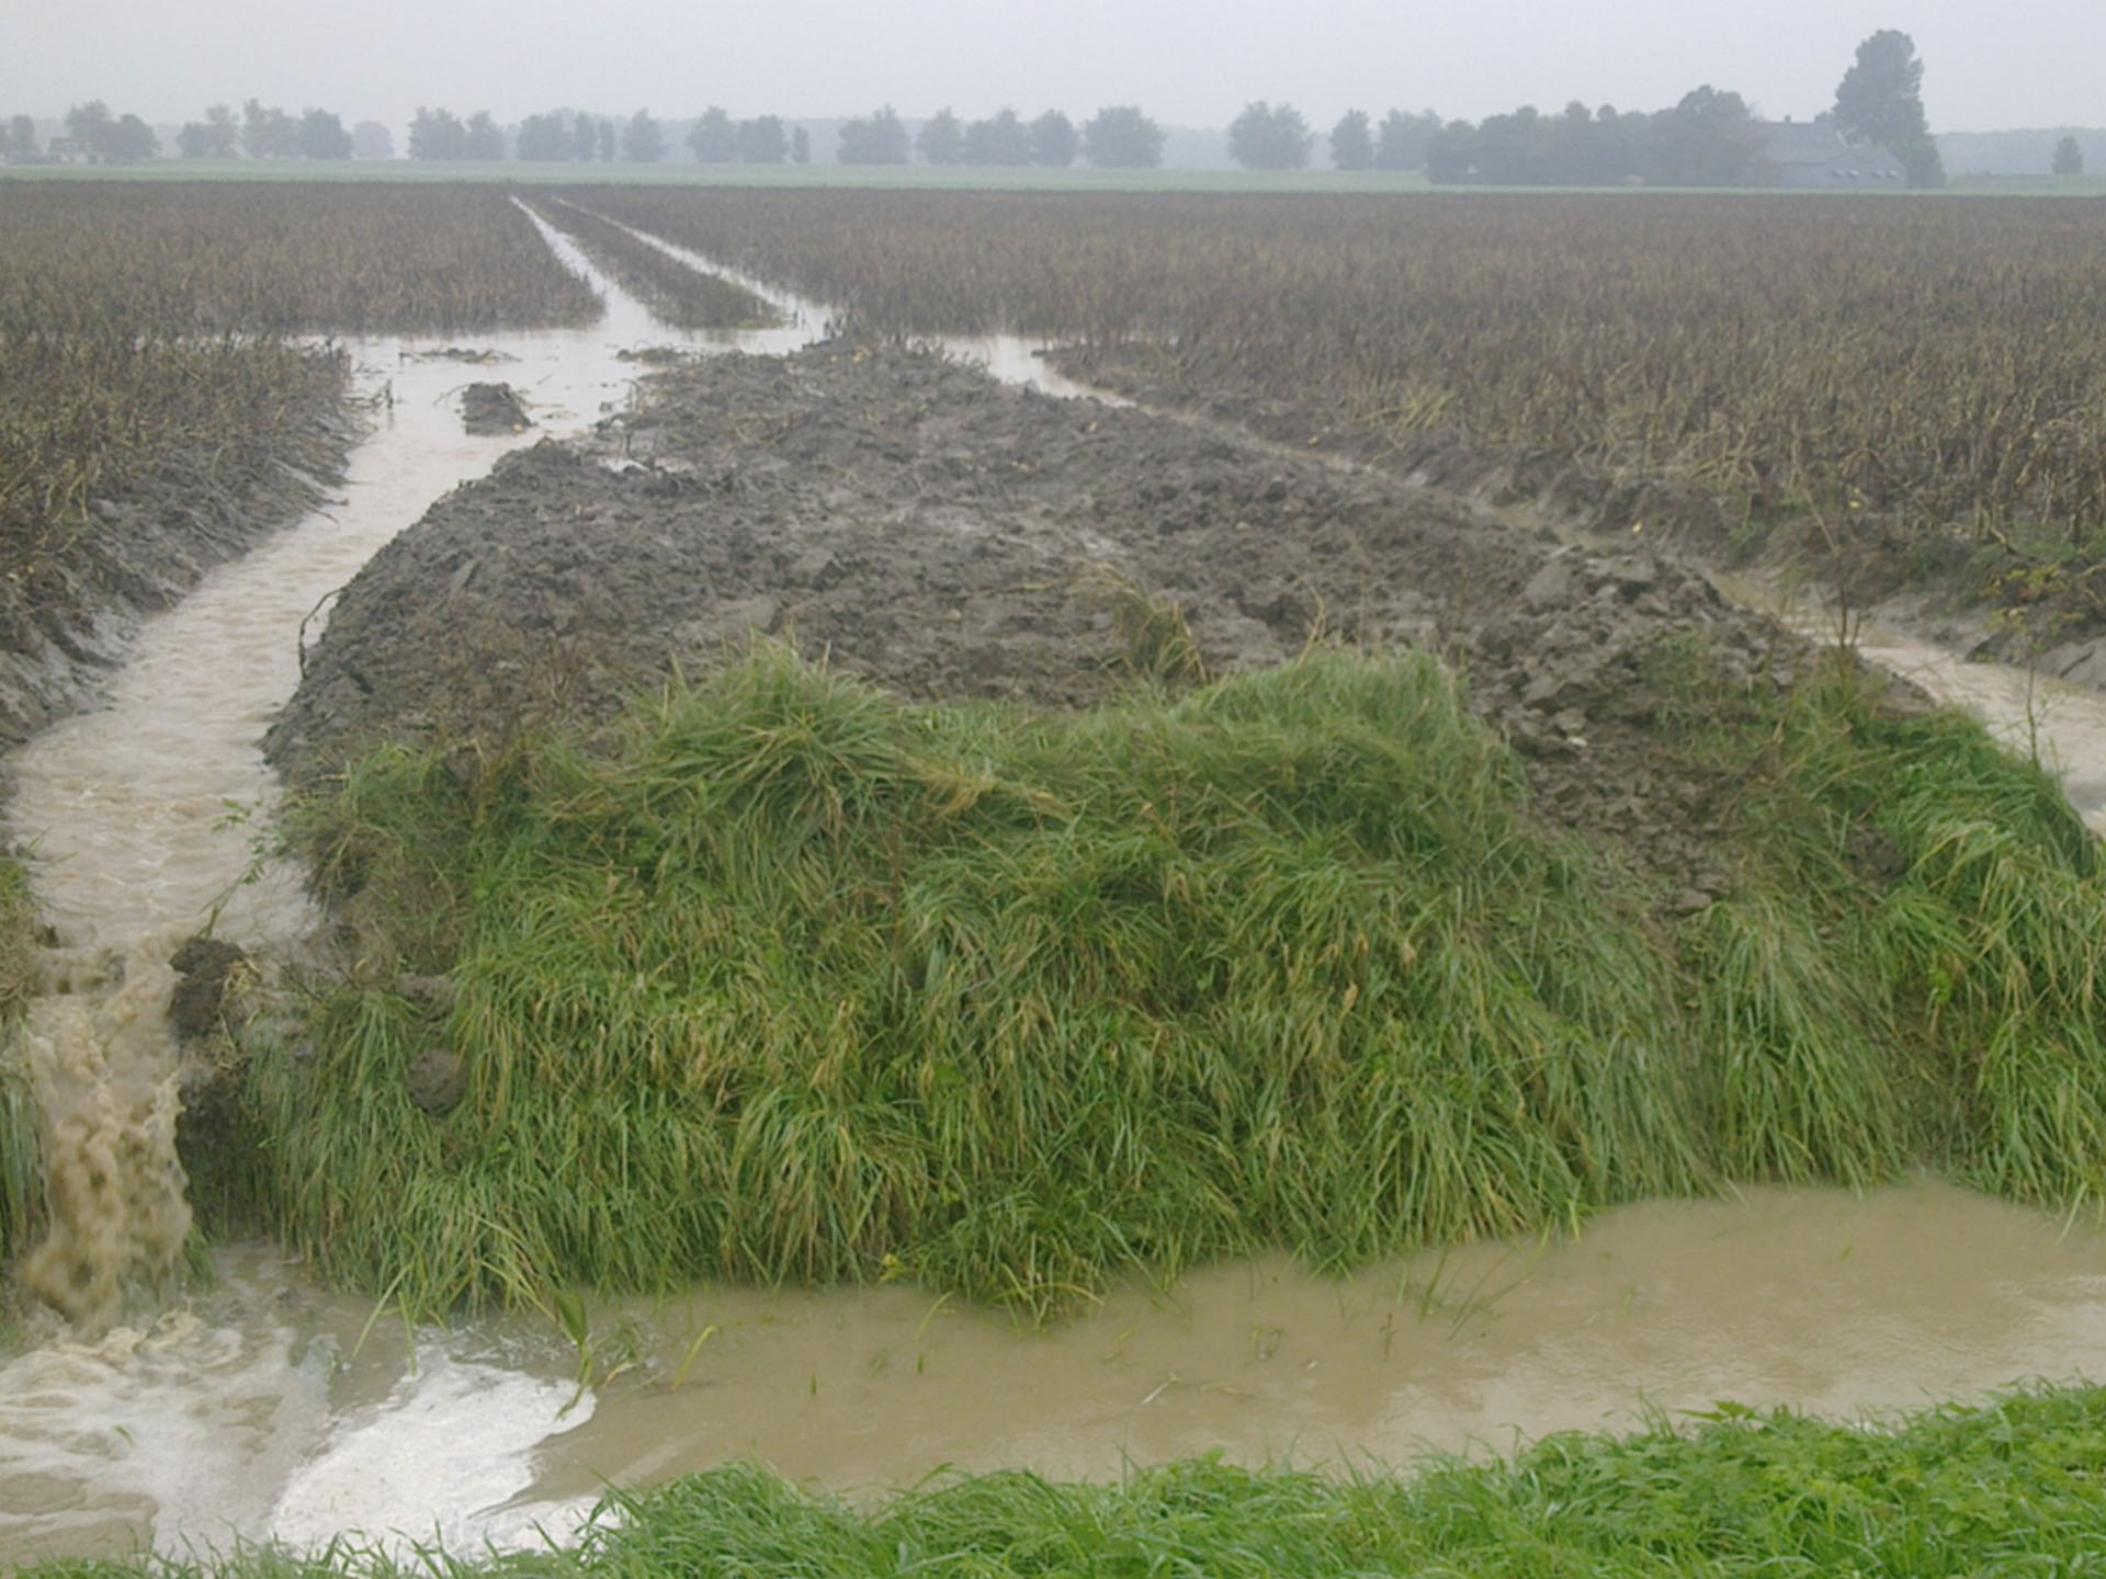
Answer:
POLYGON ((2106 526, 2106 211, 2053 200, 609 189, 845 309, 1750 509, 2106 526))

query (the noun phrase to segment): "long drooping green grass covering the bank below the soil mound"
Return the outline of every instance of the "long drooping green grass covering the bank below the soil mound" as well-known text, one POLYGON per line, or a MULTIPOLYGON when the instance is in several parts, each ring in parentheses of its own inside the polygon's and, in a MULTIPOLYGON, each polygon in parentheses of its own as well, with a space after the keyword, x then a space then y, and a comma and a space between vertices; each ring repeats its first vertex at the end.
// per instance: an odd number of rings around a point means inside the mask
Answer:
POLYGON ((1042 1316, 1721 1177, 2095 1196, 2106 882, 2053 785, 1672 657, 1742 798, 1674 928, 1415 653, 1032 718, 760 651, 602 752, 381 754, 303 834, 375 985, 257 1053, 261 1206, 419 1312, 908 1276, 1042 1316))

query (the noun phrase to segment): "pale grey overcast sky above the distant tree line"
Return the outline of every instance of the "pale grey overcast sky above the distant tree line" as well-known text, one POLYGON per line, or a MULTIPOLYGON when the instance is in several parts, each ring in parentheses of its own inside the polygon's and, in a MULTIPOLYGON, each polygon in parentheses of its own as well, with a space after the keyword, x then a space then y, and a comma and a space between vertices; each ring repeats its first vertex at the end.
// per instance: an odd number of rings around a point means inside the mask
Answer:
POLYGON ((345 124, 417 105, 908 118, 1139 103, 1224 126, 1251 99, 1481 120, 1660 109, 1710 82, 1826 109, 1855 46, 1916 40, 1933 131, 2106 126, 2106 0, 0 0, 0 116, 82 99, 154 122, 259 97, 345 124))

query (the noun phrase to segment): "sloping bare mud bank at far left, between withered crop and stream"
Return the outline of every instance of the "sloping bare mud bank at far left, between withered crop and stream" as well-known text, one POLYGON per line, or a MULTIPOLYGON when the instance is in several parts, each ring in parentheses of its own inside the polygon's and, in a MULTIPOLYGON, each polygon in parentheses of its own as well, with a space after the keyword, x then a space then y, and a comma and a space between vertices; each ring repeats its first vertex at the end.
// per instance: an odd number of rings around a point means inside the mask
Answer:
POLYGON ((0 745, 91 707, 128 657, 139 623, 206 571, 316 509, 356 442, 347 366, 289 392, 278 432, 305 440, 259 455, 192 455, 80 516, 42 522, 0 556, 0 745))

